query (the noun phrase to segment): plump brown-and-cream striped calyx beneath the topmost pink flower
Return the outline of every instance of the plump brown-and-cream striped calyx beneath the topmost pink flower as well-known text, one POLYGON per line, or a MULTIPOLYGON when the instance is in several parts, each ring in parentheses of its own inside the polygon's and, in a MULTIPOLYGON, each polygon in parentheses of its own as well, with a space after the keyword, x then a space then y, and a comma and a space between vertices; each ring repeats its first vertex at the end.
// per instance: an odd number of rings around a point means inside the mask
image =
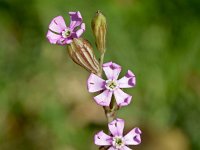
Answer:
POLYGON ((94 74, 99 71, 99 62, 97 61, 91 44, 83 38, 74 38, 73 42, 67 46, 69 56, 72 60, 94 74))

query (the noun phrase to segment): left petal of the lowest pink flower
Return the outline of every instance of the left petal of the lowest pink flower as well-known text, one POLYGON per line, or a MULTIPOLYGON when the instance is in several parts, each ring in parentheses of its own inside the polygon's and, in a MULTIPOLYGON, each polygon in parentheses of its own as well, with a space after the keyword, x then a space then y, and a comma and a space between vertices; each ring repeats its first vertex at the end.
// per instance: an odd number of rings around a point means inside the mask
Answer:
POLYGON ((109 135, 105 134, 103 131, 98 132, 94 136, 94 143, 96 145, 111 145, 112 144, 112 137, 109 135))

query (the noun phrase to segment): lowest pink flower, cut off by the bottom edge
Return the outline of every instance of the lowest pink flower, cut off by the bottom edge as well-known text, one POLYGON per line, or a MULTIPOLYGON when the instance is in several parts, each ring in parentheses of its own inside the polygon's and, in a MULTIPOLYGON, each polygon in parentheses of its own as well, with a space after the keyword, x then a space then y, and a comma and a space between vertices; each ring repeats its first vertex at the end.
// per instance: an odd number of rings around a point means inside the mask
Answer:
POLYGON ((103 131, 94 136, 94 143, 99 146, 108 146, 108 150, 131 150, 127 145, 138 145, 141 143, 139 128, 132 129, 128 134, 123 136, 124 120, 116 119, 108 124, 111 135, 103 131))

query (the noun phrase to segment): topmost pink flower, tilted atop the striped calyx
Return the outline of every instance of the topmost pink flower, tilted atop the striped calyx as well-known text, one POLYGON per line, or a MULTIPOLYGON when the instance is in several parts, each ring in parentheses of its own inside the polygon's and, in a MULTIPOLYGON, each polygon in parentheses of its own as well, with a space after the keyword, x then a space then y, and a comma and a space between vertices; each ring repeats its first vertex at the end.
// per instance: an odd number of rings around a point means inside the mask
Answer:
POLYGON ((55 17, 49 24, 47 39, 51 44, 70 44, 73 38, 79 38, 85 31, 85 23, 79 11, 69 12, 70 25, 66 26, 62 16, 55 17))

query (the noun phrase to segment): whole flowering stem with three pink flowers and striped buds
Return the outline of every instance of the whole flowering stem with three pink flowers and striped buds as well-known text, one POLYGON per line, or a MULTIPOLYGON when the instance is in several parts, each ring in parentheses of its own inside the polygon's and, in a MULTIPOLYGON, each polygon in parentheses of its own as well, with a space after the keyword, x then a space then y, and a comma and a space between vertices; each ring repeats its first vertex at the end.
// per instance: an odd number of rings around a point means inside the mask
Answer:
POLYGON ((110 131, 109 135, 103 131, 95 134, 94 143, 108 150, 131 150, 127 146, 140 144, 142 132, 139 128, 134 128, 123 135, 124 120, 115 119, 115 113, 122 106, 130 104, 132 96, 122 89, 136 85, 135 75, 128 70, 125 76, 118 79, 122 67, 113 62, 103 64, 107 25, 106 18, 100 11, 97 11, 92 20, 96 47, 101 54, 100 61, 97 61, 91 44, 81 38, 85 31, 85 23, 83 23, 80 12, 69 12, 69 16, 69 26, 65 24, 62 16, 55 17, 49 24, 46 37, 51 44, 67 45, 71 59, 91 73, 87 80, 87 88, 90 93, 99 92, 94 100, 98 105, 103 106, 110 131), (102 78, 102 71, 107 77, 106 80, 102 78), (114 106, 117 106, 117 109, 114 109, 114 106))

